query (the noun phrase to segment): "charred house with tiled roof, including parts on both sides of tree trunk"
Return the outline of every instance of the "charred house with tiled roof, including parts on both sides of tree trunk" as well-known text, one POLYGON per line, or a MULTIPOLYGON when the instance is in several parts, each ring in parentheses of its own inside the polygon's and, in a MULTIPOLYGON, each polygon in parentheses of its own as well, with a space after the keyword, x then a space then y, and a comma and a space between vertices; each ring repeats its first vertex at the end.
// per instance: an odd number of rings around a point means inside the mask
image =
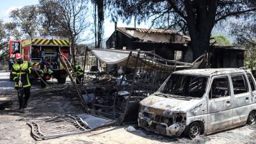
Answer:
MULTIPOLYGON (((143 29, 118 27, 106 42, 106 48, 150 51, 166 60, 193 62, 190 37, 166 29, 143 29)), ((244 49, 236 47, 211 46, 207 68, 243 67, 244 49)))

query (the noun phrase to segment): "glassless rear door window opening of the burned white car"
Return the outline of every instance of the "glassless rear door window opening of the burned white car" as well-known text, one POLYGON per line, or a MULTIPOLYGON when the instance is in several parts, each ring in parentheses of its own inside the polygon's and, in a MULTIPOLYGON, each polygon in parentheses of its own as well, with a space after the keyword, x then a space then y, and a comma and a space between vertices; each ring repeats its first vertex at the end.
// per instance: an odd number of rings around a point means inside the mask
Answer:
POLYGON ((231 79, 235 95, 248 92, 248 86, 246 86, 245 77, 243 75, 232 76, 231 79))

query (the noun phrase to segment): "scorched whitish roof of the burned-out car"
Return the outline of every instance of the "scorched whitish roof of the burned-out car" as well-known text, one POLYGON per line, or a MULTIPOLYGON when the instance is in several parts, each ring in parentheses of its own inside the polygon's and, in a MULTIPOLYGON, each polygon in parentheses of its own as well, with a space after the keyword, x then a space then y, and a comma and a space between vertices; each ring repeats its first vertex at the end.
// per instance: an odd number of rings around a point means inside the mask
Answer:
POLYGON ((179 71, 173 72, 173 74, 212 76, 212 75, 218 75, 218 74, 234 74, 237 72, 250 72, 250 70, 246 70, 245 68, 207 68, 207 69, 179 70, 179 71))

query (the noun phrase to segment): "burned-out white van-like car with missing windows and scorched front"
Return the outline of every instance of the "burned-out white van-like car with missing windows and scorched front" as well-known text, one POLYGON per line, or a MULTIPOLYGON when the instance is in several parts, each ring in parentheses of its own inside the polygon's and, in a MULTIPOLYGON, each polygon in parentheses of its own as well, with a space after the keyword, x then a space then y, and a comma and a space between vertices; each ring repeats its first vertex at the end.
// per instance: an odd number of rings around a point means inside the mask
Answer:
POLYGON ((138 125, 166 136, 194 139, 255 124, 255 79, 244 68, 173 72, 159 90, 140 102, 138 125))

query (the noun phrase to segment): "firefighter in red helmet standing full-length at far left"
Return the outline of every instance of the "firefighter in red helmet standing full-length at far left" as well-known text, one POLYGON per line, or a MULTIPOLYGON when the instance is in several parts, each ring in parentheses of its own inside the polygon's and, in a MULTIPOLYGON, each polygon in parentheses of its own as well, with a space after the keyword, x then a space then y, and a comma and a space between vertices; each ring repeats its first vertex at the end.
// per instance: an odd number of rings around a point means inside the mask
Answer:
POLYGON ((16 63, 12 65, 13 81, 15 81, 15 89, 18 91, 19 113, 23 113, 24 108, 28 106, 31 86, 29 74, 33 68, 28 61, 22 60, 22 55, 19 53, 15 54, 15 61, 16 63))

